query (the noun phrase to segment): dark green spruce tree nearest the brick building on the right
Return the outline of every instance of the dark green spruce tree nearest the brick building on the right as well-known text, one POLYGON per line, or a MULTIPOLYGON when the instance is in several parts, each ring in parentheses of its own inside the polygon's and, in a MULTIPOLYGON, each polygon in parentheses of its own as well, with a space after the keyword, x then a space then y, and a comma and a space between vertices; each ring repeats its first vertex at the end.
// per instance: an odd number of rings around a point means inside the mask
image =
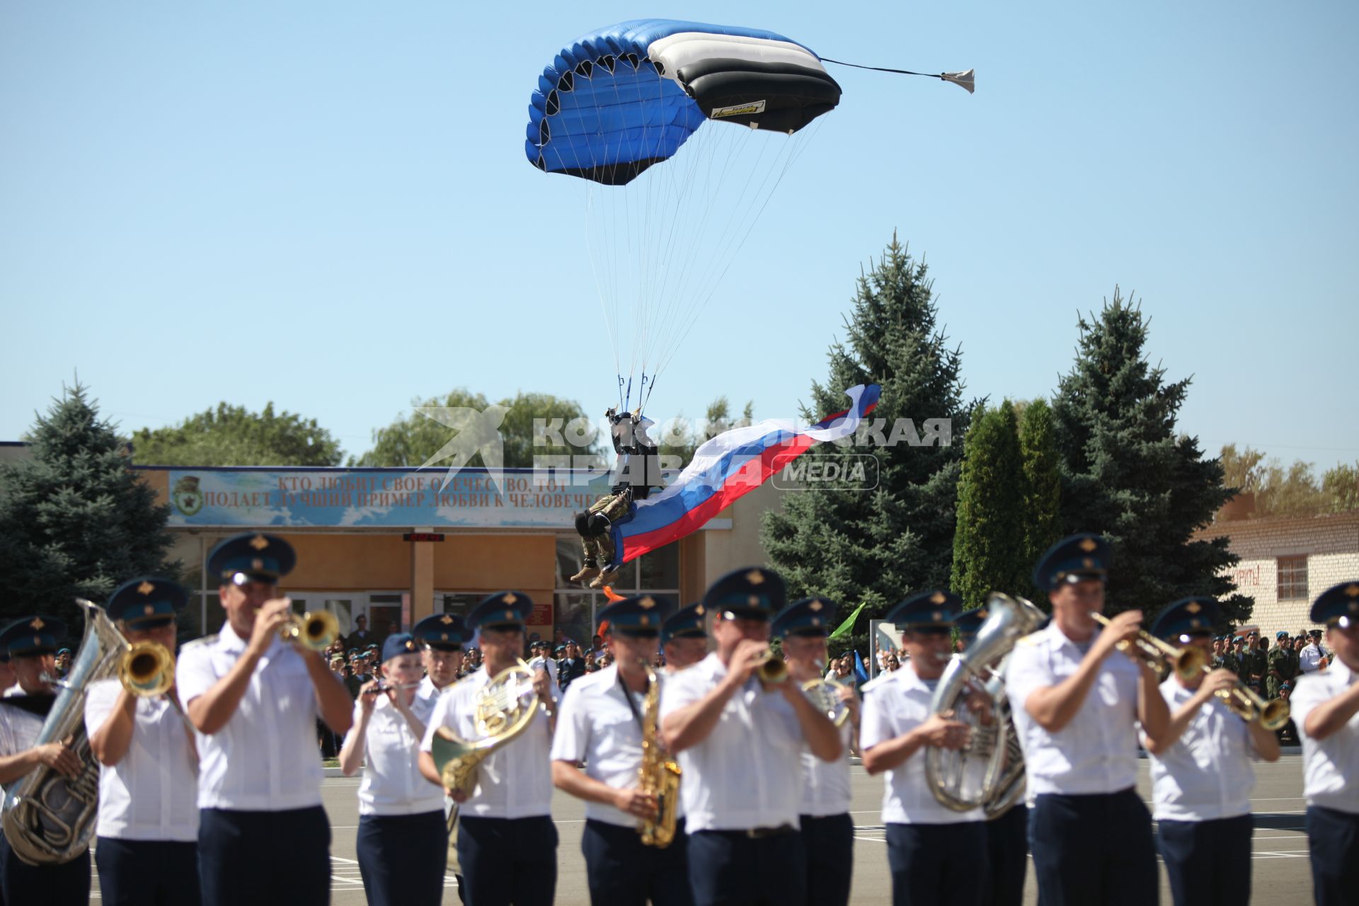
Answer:
POLYGON ((1053 401, 1064 534, 1093 531, 1113 546, 1109 613, 1137 607, 1150 622, 1171 600, 1212 595, 1234 621, 1253 599, 1223 572, 1227 539, 1193 541, 1234 489, 1196 437, 1176 433, 1189 379, 1165 382, 1147 363, 1147 321, 1117 288, 1098 316, 1080 318, 1076 361, 1053 401))

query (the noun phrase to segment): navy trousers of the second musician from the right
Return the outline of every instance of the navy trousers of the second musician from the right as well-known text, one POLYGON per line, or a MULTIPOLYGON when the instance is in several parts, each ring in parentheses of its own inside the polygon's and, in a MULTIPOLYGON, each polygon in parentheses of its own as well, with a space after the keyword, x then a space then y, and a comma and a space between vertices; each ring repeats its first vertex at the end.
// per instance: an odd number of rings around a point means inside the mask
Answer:
POLYGON ((1162 820, 1157 844, 1176 906, 1250 902, 1250 815, 1216 820, 1162 820))

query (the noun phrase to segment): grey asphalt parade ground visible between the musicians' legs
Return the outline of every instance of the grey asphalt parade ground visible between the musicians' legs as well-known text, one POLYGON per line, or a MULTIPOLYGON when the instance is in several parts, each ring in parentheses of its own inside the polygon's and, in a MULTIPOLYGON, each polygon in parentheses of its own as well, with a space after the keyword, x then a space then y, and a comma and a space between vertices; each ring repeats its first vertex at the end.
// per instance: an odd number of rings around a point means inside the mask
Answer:
MULTIPOLYGON (((1151 800, 1147 761, 1142 759, 1137 791, 1143 800, 1151 800)), ((1302 799, 1302 758, 1284 755, 1273 765, 1257 763, 1256 789, 1252 810, 1256 816, 1254 853, 1252 867, 1252 903, 1279 903, 1298 906, 1311 902, 1311 872, 1307 863, 1305 831, 1306 803, 1302 799)), ((890 903, 892 876, 887 872, 887 844, 882 827, 882 778, 870 777, 863 767, 853 769, 855 868, 853 903, 890 903)), ((363 882, 355 857, 355 835, 359 825, 357 778, 326 778, 321 788, 326 812, 330 815, 332 845, 330 876, 332 902, 336 906, 359 906, 364 902, 363 882)), ((580 856, 580 833, 584 825, 584 804, 564 793, 552 800, 552 815, 561 838, 557 848, 559 906, 588 906, 586 865, 580 856)), ((98 876, 91 901, 99 899, 98 876)), ((457 884, 450 875, 443 902, 455 906, 457 884)), ((1037 903, 1038 891, 1033 871, 1027 875, 1025 903, 1037 903)), ((1165 871, 1161 873, 1161 902, 1170 903, 1170 888, 1165 871)))

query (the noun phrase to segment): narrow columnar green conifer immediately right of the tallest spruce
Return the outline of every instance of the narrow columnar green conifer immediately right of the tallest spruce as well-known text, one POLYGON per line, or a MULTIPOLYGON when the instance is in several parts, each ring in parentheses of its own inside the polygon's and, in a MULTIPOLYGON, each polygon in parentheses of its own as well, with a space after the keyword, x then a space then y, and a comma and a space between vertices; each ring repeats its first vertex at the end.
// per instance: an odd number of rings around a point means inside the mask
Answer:
POLYGON ((964 443, 953 591, 965 607, 980 607, 993 591, 1029 591, 1023 485, 1019 424, 1014 405, 1006 399, 996 409, 973 414, 964 443))

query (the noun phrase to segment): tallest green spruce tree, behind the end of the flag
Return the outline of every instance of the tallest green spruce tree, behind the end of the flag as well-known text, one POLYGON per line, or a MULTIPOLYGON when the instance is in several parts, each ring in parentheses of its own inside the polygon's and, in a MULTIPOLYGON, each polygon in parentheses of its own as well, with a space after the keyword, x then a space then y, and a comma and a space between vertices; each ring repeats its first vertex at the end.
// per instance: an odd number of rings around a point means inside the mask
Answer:
POLYGON ((783 512, 765 513, 761 538, 794 596, 826 595, 847 614, 867 603, 852 637, 864 651, 868 618, 949 583, 962 467, 962 444, 953 437, 966 433, 972 405, 964 401, 961 353, 938 326, 925 265, 896 236, 860 274, 845 334, 832 345, 830 374, 813 384, 803 416, 817 421, 843 410, 853 384, 881 384, 882 398, 855 443, 818 444, 803 455, 839 460, 848 475, 872 456, 877 484, 862 489, 872 478, 853 478, 787 493, 783 512), (932 422, 940 429, 934 436, 927 420, 942 420, 932 422))

